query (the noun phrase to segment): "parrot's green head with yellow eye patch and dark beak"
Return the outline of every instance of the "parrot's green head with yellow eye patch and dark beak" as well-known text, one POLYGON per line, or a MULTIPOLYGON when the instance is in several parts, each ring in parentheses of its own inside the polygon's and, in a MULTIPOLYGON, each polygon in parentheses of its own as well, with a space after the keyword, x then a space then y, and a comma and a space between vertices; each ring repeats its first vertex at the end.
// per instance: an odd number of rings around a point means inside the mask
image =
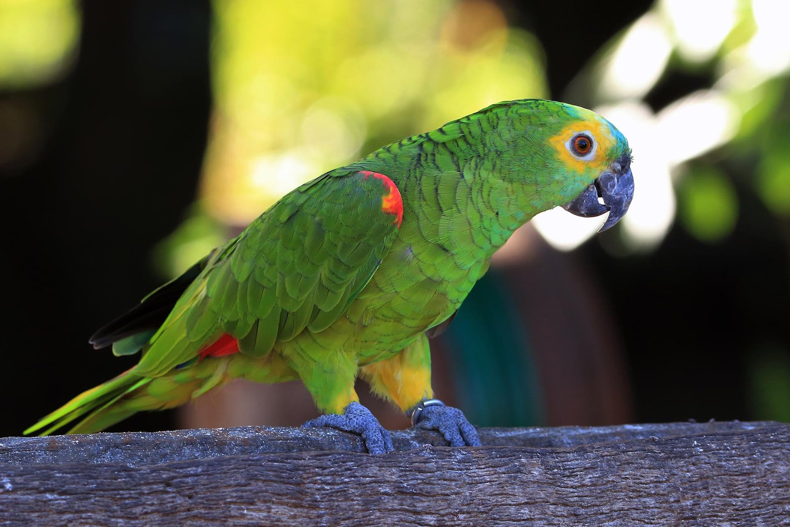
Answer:
MULTIPOLYGON (((594 111, 549 100, 525 100, 527 146, 551 174, 545 192, 577 216, 609 216, 614 226, 634 197, 631 151, 626 137, 594 111), (559 198, 559 199, 557 199, 559 198)), ((599 232, 600 232, 599 231, 599 232)))

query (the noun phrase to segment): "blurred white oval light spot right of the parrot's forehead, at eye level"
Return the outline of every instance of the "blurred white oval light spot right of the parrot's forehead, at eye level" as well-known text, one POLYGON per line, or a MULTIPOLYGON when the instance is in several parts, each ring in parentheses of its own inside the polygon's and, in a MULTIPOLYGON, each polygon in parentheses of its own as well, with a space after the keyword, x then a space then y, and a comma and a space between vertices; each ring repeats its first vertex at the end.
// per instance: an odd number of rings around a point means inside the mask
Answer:
POLYGON ((670 165, 677 165, 732 139, 740 114, 726 97, 705 90, 676 100, 657 119, 654 139, 660 140, 653 143, 660 145, 670 165))

